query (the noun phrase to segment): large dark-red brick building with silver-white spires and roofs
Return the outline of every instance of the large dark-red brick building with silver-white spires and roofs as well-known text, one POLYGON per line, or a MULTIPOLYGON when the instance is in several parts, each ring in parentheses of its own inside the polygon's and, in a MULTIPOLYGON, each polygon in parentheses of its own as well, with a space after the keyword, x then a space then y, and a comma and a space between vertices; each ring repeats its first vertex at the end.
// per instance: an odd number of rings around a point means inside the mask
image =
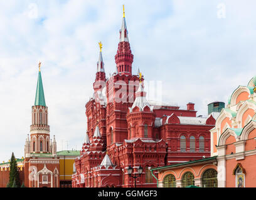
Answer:
POLYGON ((134 187, 129 167, 134 174, 143 169, 137 187, 156 187, 151 168, 210 157, 213 116, 196 117, 193 103, 181 109, 147 101, 144 78, 132 74, 134 55, 125 17, 115 55, 117 71, 107 79, 101 48, 95 93, 85 106, 87 134, 75 159, 72 187, 134 187))

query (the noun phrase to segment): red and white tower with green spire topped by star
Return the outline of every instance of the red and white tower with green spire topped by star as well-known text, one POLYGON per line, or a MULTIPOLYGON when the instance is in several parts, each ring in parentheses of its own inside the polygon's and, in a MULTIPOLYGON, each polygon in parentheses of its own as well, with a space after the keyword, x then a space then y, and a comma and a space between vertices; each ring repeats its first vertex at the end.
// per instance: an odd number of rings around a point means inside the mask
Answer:
MULTIPOLYGON (((39 64, 39 67, 41 63, 39 64)), ((35 104, 32 106, 30 138, 26 139, 24 184, 26 187, 58 187, 60 162, 56 155, 56 140, 50 139, 48 107, 45 104, 41 71, 38 73, 35 104)))

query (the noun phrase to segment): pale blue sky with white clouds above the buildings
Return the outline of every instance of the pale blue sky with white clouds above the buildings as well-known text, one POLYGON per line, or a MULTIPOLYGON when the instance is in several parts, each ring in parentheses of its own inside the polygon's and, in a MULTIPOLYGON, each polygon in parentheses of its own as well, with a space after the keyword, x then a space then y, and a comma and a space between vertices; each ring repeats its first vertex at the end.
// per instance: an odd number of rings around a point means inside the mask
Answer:
MULTIPOLYGON (((165 103, 227 103, 256 75, 255 1, 0 0, 0 162, 24 144, 35 103, 38 62, 57 151, 80 150, 92 96, 98 42, 107 77, 122 23, 134 63, 147 81, 161 81, 165 103)), ((149 99, 154 100, 154 99, 149 99)))

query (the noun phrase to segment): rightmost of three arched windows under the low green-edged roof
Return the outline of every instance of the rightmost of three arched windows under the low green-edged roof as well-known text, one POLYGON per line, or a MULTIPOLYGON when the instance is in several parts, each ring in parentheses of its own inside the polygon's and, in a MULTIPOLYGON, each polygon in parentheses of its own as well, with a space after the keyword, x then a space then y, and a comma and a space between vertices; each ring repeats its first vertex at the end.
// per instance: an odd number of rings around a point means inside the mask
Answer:
POLYGON ((217 171, 215 169, 207 169, 203 173, 203 187, 218 187, 217 171))

